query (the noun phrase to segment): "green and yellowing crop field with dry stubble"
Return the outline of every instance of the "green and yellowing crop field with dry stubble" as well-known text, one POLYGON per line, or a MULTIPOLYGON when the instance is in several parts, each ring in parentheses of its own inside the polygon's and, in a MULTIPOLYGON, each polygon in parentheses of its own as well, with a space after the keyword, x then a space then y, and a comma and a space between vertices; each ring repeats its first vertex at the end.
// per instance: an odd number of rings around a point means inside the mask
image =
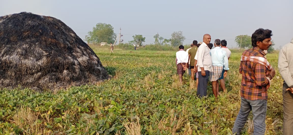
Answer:
MULTIPOLYGON (((176 75, 176 51, 91 48, 111 79, 62 90, 0 90, 0 134, 232 134, 240 108, 241 53, 232 53, 216 101, 196 96, 195 82, 176 75)), ((268 90, 266 134, 282 134, 282 77, 278 54, 268 54, 276 75, 268 90)), ((253 132, 252 115, 242 134, 253 132)))

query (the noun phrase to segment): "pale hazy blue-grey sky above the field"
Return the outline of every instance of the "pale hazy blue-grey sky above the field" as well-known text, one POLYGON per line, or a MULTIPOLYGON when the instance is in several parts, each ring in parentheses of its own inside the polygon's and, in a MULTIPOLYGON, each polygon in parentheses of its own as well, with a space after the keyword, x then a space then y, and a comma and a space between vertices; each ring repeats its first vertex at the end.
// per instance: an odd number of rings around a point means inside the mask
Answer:
POLYGON ((159 32, 171 38, 183 31, 184 44, 202 41, 208 33, 214 39, 226 39, 228 47, 236 47, 237 35, 251 35, 256 29, 270 29, 275 48, 293 38, 293 0, 0 0, 0 16, 32 12, 63 21, 84 39, 97 23, 107 23, 124 42, 142 34, 145 44, 154 43, 159 32))

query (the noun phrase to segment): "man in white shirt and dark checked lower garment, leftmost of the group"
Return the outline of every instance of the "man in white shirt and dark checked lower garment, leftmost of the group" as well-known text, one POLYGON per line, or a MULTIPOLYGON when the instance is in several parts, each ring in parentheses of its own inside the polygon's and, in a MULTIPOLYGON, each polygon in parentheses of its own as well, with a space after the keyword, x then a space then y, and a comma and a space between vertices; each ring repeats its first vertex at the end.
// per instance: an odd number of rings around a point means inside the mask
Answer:
POLYGON ((176 64, 177 74, 179 76, 180 83, 182 83, 182 76, 185 73, 188 64, 188 53, 184 51, 184 46, 179 46, 179 51, 176 52, 176 64))

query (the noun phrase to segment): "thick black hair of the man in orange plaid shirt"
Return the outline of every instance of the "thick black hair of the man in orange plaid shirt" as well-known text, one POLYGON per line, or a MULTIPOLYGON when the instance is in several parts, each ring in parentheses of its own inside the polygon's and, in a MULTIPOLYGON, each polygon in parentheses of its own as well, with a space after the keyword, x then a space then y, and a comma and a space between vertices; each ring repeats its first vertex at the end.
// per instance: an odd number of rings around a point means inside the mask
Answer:
POLYGON ((257 46, 256 42, 260 41, 263 42, 263 40, 271 38, 272 31, 269 29, 264 30, 263 28, 259 28, 255 30, 255 32, 251 36, 251 44, 252 46, 257 46))

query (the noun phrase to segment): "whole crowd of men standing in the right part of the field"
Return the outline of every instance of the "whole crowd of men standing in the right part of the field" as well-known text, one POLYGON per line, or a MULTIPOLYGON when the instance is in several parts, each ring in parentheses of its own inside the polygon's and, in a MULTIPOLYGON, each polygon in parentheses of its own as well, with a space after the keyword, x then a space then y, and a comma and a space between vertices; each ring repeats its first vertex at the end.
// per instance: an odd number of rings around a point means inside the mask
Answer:
MULTIPOLYGON (((252 48, 244 51, 241 56, 239 73, 241 80, 241 105, 236 117, 232 132, 240 134, 249 113, 252 111, 254 135, 264 135, 266 124, 268 89, 275 76, 275 69, 266 58, 267 50, 272 45, 272 31, 262 28, 256 30, 251 36, 252 48)), ((191 79, 196 74, 197 95, 207 96, 208 80, 212 82, 212 92, 217 98, 219 95, 219 81, 226 92, 224 77, 229 70, 228 60, 231 51, 226 47, 227 41, 216 39, 210 43, 211 36, 205 34, 203 42, 197 44, 193 41, 190 49, 184 51, 184 46, 179 46, 176 53, 177 74, 182 83, 182 76, 186 69, 190 69, 191 79), (197 46, 197 49, 195 48, 197 46)), ((283 134, 293 134, 293 39, 282 47, 279 53, 278 68, 284 79, 283 83, 283 134)))

